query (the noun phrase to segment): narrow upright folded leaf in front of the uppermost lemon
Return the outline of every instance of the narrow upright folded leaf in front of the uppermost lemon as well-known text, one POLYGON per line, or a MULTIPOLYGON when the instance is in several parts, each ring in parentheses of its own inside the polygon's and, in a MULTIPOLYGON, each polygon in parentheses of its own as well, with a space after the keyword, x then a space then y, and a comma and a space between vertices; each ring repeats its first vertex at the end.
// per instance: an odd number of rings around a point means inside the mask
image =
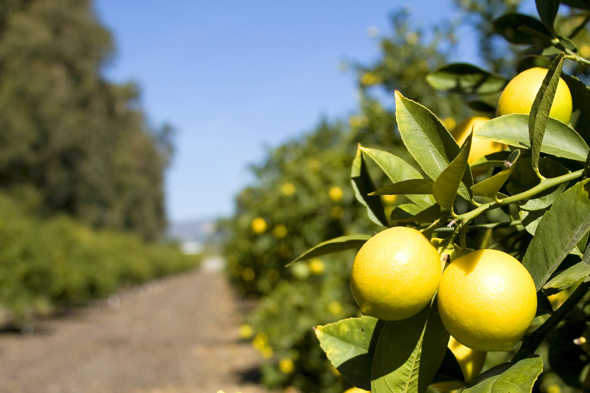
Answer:
MULTIPOLYGON (((539 5, 537 0, 537 6, 539 5)), ((558 2, 559 6, 559 2, 558 2)), ((557 90, 559 82, 559 75, 561 75, 561 68, 563 67, 563 52, 553 60, 552 64, 547 70, 541 87, 537 91, 535 101, 530 108, 529 114, 529 141, 531 146, 531 156, 533 171, 539 176, 539 154, 541 144, 543 143, 543 136, 545 136, 545 128, 549 119, 549 111, 553 105, 553 98, 557 90)))

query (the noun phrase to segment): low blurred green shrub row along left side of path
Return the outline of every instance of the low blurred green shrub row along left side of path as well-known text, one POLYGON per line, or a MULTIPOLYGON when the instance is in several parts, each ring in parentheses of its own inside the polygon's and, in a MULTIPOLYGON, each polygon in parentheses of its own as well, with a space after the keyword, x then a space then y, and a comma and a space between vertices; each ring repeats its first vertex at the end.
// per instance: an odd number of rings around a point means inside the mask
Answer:
POLYGON ((67 216, 42 219, 0 194, 0 306, 17 322, 57 305, 81 305, 196 266, 178 247, 137 235, 91 230, 67 216))

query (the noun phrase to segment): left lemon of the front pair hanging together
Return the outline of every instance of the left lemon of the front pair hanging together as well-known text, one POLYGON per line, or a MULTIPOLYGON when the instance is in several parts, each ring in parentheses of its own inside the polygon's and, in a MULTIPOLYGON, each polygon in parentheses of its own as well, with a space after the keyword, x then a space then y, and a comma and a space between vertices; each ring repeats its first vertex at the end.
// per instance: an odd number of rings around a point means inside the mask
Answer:
POLYGON ((371 237, 359 250, 350 288, 363 314, 400 321, 430 302, 441 276, 441 261, 430 241, 415 229, 393 227, 371 237))

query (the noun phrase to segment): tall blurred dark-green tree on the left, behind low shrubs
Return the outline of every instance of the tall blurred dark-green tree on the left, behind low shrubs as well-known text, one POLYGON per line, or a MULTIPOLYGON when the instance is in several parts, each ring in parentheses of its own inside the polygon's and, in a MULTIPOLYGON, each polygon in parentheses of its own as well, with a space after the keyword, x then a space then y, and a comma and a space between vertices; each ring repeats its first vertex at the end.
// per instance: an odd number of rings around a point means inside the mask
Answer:
POLYGON ((0 4, 0 187, 32 185, 41 212, 156 239, 171 128, 147 126, 135 85, 104 80, 112 53, 90 0, 0 4))

